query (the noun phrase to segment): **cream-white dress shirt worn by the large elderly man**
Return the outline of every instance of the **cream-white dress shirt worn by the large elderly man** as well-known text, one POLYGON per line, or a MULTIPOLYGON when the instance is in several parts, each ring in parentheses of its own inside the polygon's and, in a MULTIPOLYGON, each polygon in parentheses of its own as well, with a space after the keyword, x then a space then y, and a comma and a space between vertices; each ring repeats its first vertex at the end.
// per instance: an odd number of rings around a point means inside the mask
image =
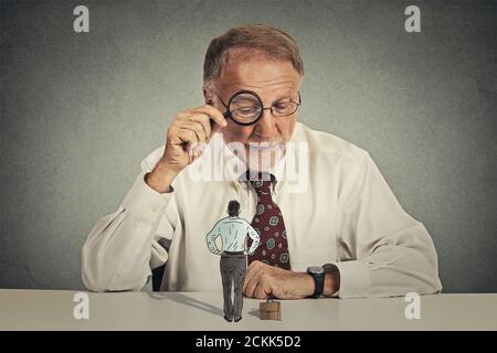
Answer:
MULTIPOLYGON (((299 122, 290 142, 305 153, 287 151, 277 164, 273 200, 285 220, 292 270, 335 264, 340 298, 441 291, 427 231, 402 208, 367 151, 299 122), (282 176, 282 165, 297 161, 299 180, 282 176)), ((167 263, 161 290, 222 291, 219 258, 205 246, 205 234, 226 215, 230 200, 240 202, 241 217, 252 220, 256 194, 235 178, 243 170, 233 174, 229 169, 223 180, 199 180, 195 171, 213 175, 208 167, 231 153, 228 148, 219 153, 211 148, 215 143, 223 143, 222 136, 178 174, 169 193, 144 181, 165 147, 142 161, 118 208, 98 220, 83 247, 83 281, 89 290, 140 290, 150 268, 167 263)))

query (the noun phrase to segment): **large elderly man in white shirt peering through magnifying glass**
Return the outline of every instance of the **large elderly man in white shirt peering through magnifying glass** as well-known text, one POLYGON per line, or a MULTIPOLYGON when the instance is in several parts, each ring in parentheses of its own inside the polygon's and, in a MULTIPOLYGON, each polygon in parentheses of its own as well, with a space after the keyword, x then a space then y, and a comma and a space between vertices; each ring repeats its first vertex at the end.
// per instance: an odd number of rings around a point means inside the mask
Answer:
POLYGON ((214 39, 205 105, 172 119, 166 145, 92 229, 86 287, 140 290, 166 264, 161 290, 221 291, 203 236, 225 202, 239 200, 261 238, 248 256, 247 297, 438 292, 433 242, 369 153, 297 122, 303 76, 297 43, 278 29, 245 25, 214 39))

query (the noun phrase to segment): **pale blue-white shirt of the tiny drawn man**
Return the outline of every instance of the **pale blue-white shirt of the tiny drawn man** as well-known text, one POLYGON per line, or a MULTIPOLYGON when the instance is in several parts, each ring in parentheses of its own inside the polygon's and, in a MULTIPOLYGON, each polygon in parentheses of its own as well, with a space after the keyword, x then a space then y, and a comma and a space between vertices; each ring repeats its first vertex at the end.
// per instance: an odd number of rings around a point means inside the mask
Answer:
POLYGON ((261 244, 261 237, 246 220, 228 216, 219 221, 205 235, 205 242, 208 248, 215 255, 221 252, 247 252, 247 255, 252 255, 261 244), (252 239, 248 250, 245 248, 247 235, 252 239), (221 248, 215 244, 218 237, 221 238, 221 248))

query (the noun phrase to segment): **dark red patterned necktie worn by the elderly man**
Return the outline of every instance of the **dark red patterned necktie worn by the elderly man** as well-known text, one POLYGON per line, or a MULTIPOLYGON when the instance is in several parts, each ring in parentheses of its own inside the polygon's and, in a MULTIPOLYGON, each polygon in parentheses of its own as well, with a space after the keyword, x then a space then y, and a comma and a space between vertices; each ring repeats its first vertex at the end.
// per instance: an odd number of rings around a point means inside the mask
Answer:
MULTIPOLYGON (((254 174, 247 172, 247 179, 257 193, 257 205, 251 225, 261 236, 261 245, 248 256, 248 264, 260 260, 271 266, 290 269, 285 222, 282 211, 271 196, 271 183, 275 178, 273 174, 255 175, 257 178, 254 180, 254 174)), ((252 239, 248 238, 248 246, 251 244, 252 239)))

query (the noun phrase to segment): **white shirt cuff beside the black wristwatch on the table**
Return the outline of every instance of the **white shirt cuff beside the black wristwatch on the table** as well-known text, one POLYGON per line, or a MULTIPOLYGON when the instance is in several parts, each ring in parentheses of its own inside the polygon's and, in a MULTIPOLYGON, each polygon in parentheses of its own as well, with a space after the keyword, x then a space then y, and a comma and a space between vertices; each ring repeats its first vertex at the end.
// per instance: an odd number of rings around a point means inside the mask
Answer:
POLYGON ((358 260, 335 263, 340 272, 340 298, 366 298, 369 295, 370 277, 368 267, 358 260))

